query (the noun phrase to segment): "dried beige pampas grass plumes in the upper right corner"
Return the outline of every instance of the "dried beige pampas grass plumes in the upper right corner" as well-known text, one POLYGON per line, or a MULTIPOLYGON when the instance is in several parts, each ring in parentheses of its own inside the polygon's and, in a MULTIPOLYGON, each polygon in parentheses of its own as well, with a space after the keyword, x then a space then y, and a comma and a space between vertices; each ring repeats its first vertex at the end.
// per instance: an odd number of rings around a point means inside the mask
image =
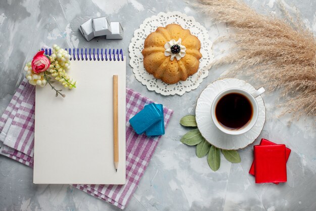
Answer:
MULTIPOLYGON (((285 112, 316 116, 316 40, 281 6, 287 19, 257 14, 235 0, 198 0, 197 6, 236 33, 234 52, 213 64, 235 64, 229 74, 241 72, 265 83, 270 91, 281 88, 285 112)), ((232 39, 233 38, 233 39, 232 39)))

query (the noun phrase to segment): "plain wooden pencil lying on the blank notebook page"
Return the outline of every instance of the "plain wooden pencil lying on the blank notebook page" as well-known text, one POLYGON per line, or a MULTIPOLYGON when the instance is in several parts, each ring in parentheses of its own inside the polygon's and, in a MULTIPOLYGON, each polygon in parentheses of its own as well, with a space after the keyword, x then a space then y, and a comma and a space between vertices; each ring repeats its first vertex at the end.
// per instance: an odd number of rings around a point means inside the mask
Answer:
POLYGON ((114 152, 114 167, 116 172, 119 165, 119 111, 118 111, 118 80, 119 76, 113 76, 113 152, 114 152))

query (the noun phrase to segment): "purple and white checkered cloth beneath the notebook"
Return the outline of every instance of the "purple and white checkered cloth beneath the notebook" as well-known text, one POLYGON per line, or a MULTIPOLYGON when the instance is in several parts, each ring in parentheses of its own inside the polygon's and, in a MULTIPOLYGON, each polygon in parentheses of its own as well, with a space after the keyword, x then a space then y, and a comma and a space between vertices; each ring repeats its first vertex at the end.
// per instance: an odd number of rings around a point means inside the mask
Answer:
MULTIPOLYGON (((153 101, 126 88, 126 184, 80 185, 76 188, 121 209, 128 204, 161 136, 137 135, 128 120, 153 101)), ((24 79, 0 118, 0 153, 33 167, 35 87, 24 79)), ((164 107, 167 126, 173 111, 164 107)))

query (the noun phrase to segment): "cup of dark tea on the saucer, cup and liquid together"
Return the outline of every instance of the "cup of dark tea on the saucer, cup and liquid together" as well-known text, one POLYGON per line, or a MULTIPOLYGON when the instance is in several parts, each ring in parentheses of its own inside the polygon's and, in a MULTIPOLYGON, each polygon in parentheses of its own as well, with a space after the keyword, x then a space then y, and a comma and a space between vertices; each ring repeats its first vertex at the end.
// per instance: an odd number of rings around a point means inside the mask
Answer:
POLYGON ((248 132, 258 119, 259 107, 255 98, 265 91, 261 87, 253 93, 241 88, 220 92, 210 109, 216 127, 230 135, 248 132))

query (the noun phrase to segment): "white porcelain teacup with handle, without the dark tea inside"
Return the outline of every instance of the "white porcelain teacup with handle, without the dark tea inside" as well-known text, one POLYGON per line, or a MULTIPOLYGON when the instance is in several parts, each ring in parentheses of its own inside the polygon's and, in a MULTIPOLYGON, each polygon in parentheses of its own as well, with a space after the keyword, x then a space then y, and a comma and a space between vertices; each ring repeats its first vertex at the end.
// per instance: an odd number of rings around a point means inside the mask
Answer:
POLYGON ((215 99, 213 100, 212 103, 212 107, 210 109, 210 114, 212 116, 212 120, 214 122, 214 124, 216 125, 216 127, 221 130, 222 132, 226 133, 226 134, 230 134, 230 135, 240 135, 243 133, 248 132, 257 122, 258 119, 258 114, 259 114, 259 107, 258 107, 258 103, 256 101, 256 97, 259 96, 260 94, 264 93, 266 90, 261 87, 258 90, 256 90, 253 93, 250 93, 249 91, 245 90, 245 89, 241 89, 241 88, 229 88, 229 89, 225 89, 224 91, 220 92, 215 99), (230 93, 238 93, 238 94, 242 94, 244 97, 246 97, 252 107, 252 116, 250 118, 250 120, 243 125, 242 127, 238 128, 238 129, 230 129, 227 127, 224 127, 223 124, 221 124, 217 117, 216 117, 216 107, 217 104, 219 102, 219 100, 230 93))

